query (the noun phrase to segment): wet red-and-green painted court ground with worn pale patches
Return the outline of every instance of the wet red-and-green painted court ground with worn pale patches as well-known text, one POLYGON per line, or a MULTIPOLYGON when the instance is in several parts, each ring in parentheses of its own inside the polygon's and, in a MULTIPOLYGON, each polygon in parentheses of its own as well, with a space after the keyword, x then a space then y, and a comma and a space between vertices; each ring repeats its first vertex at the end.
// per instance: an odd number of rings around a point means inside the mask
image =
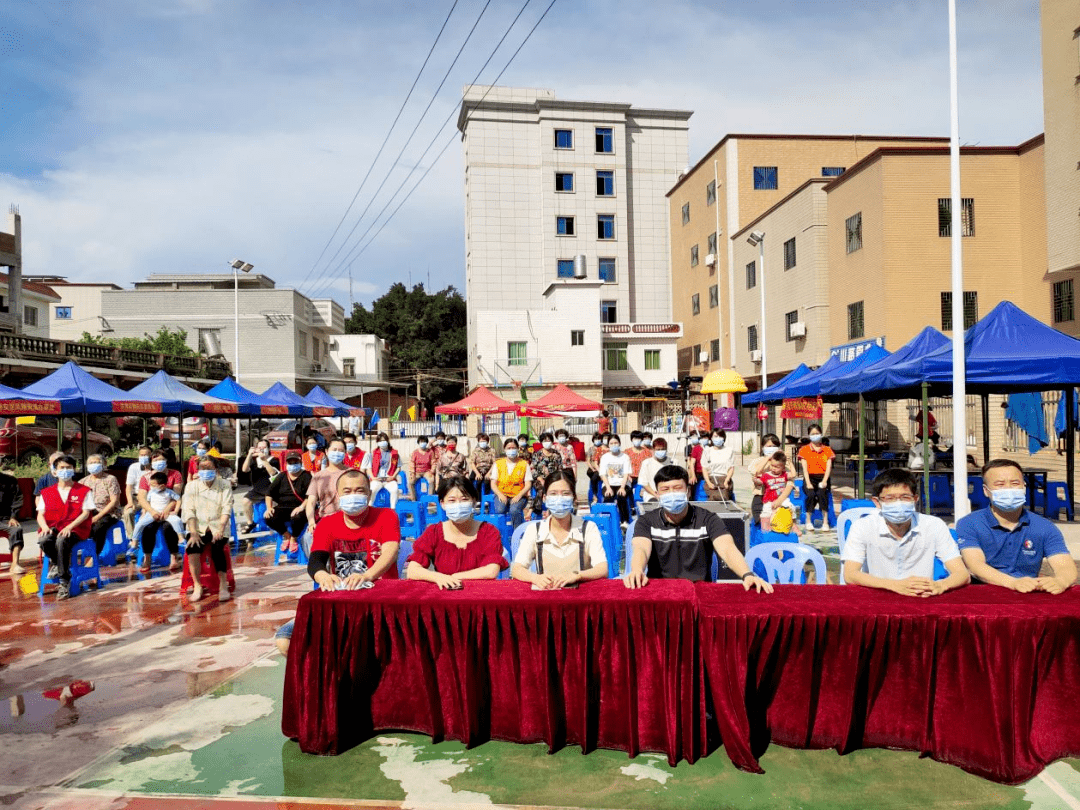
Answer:
MULTIPOLYGON (((1080 530, 1063 528, 1080 541, 1080 530)), ((835 571, 835 537, 812 541, 835 571)), ((467 751, 410 733, 308 756, 281 735, 284 662, 271 636, 310 580, 271 563, 266 548, 238 556, 237 595, 226 604, 192 605, 177 575, 145 580, 126 566, 109 569, 100 592, 59 604, 25 593, 26 579, 0 580, 0 700, 9 705, 0 805, 1080 809, 1080 760, 1005 787, 909 753, 775 745, 765 775, 734 770, 723 752, 671 768, 650 754, 552 756, 507 743, 467 751), (73 707, 42 696, 78 678, 96 689, 73 707)))

